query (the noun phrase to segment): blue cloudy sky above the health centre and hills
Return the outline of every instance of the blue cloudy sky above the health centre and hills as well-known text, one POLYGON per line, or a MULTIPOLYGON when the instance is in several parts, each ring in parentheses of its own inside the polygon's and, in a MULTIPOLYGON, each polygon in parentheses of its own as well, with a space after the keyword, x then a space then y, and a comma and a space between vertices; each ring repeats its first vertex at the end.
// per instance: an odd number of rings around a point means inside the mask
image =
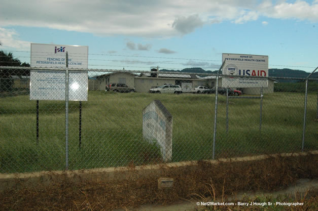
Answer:
POLYGON ((88 67, 217 70, 222 53, 269 68, 318 66, 318 0, 0 0, 0 50, 30 63, 30 44, 88 46, 88 67))

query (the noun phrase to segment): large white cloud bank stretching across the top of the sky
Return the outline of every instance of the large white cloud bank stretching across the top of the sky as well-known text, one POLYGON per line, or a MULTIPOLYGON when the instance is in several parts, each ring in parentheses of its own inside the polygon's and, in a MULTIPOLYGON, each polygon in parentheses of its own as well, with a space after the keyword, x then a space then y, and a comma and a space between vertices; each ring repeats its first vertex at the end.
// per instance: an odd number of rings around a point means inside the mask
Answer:
POLYGON ((204 24, 242 24, 260 16, 318 22, 318 1, 2 1, 0 26, 46 27, 102 36, 170 37, 191 33, 204 24))

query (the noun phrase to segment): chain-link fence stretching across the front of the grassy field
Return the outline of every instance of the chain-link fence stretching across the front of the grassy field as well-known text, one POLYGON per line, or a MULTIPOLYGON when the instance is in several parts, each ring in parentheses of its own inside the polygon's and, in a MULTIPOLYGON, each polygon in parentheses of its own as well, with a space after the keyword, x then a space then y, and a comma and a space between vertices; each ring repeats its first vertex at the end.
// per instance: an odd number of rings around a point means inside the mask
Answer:
POLYGON ((318 149, 317 79, 306 92, 306 78, 239 89, 249 77, 69 69, 65 80, 65 72, 0 67, 0 173, 318 149))

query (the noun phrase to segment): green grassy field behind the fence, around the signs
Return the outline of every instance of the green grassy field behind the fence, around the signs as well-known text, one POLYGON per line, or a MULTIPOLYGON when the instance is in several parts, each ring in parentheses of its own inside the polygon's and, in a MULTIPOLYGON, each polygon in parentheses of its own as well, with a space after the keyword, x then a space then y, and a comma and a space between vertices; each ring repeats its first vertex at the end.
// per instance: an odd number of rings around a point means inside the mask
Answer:
MULTIPOLYGON (((89 92, 82 109, 69 103, 69 169, 162 162, 156 145, 143 140, 142 110, 160 100, 173 116, 172 161, 211 159, 215 95, 89 92)), ((305 150, 318 149, 316 94, 308 95, 305 150)), ((301 151, 304 94, 273 93, 263 99, 230 99, 226 133, 226 97, 220 96, 216 158, 301 151)), ((0 99, 0 173, 65 168, 65 103, 40 101, 39 144, 36 101, 28 95, 0 99)))

